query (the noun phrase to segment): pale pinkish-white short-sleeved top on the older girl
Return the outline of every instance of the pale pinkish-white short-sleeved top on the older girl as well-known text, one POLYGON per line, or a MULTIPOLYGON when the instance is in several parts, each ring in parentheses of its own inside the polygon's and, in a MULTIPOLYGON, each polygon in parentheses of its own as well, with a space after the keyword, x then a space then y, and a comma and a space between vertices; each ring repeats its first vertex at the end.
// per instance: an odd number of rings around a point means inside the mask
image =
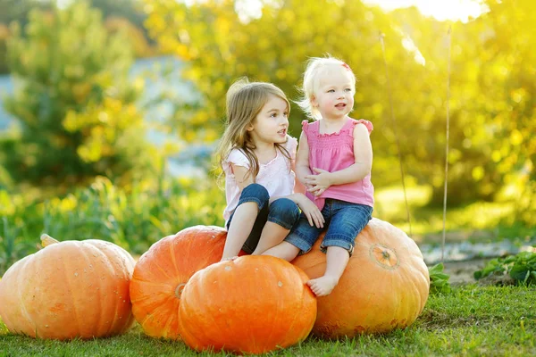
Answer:
MULTIPOLYGON (((296 160, 297 139, 295 137, 287 137, 287 142, 283 145, 290 154, 292 162, 296 160)), ((255 177, 255 183, 262 185, 272 196, 285 196, 294 193, 294 183, 296 174, 291 170, 291 162, 276 150, 275 157, 267 163, 259 165, 259 173, 255 177)), ((227 225, 230 215, 237 208, 240 198, 240 189, 235 179, 232 167, 233 163, 236 166, 243 166, 249 169, 250 165, 247 161, 247 156, 240 149, 230 151, 227 159, 222 162, 223 171, 225 172, 225 196, 227 198, 227 207, 223 211, 223 219, 227 225)))

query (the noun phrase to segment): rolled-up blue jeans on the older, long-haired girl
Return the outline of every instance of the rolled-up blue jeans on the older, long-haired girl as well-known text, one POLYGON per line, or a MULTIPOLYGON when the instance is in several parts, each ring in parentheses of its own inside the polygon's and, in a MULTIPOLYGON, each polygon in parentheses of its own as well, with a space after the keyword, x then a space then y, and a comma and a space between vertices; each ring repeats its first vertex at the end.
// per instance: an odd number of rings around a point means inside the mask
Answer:
MULTIPOLYGON (((248 254, 255 251, 266 222, 270 221, 279 224, 282 228, 290 229, 299 220, 299 209, 293 201, 288 198, 278 198, 272 203, 269 203, 269 201, 270 195, 268 195, 268 191, 264 186, 259 184, 247 185, 240 194, 237 208, 240 204, 247 202, 255 202, 259 207, 259 213, 251 229, 251 233, 247 237, 246 243, 242 246, 242 250, 248 254)), ((227 221, 227 229, 230 227, 233 216, 234 212, 227 221)))

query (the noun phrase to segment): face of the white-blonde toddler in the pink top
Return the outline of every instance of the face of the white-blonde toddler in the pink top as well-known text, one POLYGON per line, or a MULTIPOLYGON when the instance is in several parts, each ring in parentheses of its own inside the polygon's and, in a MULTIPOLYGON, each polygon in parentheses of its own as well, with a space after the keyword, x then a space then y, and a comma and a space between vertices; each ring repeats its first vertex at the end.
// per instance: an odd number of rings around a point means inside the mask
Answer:
POLYGON ((354 107, 355 84, 348 70, 333 64, 319 75, 318 89, 315 91, 313 106, 323 119, 339 120, 348 115, 354 107))

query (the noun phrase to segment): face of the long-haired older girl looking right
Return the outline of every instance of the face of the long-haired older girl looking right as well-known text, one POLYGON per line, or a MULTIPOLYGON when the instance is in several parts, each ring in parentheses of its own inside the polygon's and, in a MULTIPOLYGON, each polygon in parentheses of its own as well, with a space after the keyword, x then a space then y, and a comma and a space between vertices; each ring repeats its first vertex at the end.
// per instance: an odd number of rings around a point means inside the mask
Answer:
POLYGON ((289 107, 279 96, 270 95, 261 112, 247 128, 255 145, 287 142, 289 107))

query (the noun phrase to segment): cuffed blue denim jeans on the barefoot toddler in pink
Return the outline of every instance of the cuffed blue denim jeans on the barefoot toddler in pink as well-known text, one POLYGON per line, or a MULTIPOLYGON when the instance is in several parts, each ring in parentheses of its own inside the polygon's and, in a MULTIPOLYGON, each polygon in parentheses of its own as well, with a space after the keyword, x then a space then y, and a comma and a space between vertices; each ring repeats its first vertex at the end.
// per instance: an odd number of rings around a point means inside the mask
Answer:
MULTIPOLYGON (((328 246, 339 246, 352 255, 356 237, 368 221, 372 220, 372 214, 371 206, 327 198, 322 208, 324 227, 328 228, 322 240, 322 252, 325 253, 328 246)), ((307 253, 322 230, 316 226, 311 227, 306 215, 302 213, 285 241, 299 248, 300 253, 307 253)))

